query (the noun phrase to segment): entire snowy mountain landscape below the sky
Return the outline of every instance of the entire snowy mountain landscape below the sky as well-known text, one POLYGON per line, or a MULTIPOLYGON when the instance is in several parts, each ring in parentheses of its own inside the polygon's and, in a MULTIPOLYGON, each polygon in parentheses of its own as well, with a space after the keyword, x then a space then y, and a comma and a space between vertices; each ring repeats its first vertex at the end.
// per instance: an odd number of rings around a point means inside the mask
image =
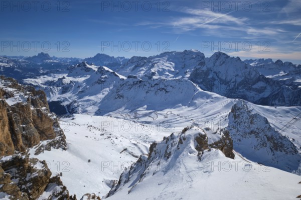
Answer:
MULTIPOLYGON (((33 199, 55 198, 54 181, 61 199, 300 194, 301 65, 191 49, 129 59, 1 56, 0 71, 17 79, 0 82, 0 172, 14 175, 6 163, 20 156, 28 173, 44 170, 47 184, 33 199)), ((14 177, 7 185, 30 196, 14 177)))

